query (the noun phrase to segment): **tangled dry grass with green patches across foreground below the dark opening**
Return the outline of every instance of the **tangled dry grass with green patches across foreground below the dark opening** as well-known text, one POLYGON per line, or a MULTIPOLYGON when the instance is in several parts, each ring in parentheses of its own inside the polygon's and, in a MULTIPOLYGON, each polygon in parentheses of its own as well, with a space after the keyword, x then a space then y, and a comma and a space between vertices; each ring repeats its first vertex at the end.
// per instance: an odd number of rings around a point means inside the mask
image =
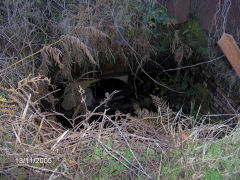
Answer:
MULTIPOLYGON (((106 115, 107 109, 98 111, 114 93, 93 111, 66 119, 82 119, 73 123, 73 129, 57 122, 63 115, 39 111, 31 103, 34 93, 27 96, 22 110, 2 114, 1 178, 198 179, 239 174, 234 161, 239 154, 238 126, 198 125, 193 117, 179 111, 173 120, 156 127, 149 123, 153 117, 139 119, 120 112, 106 115), (217 139, 220 135, 223 138, 217 139), (229 167, 233 167, 232 172, 229 167)), ((84 99, 81 102, 86 106, 84 99)), ((166 116, 158 114, 155 121, 161 119, 166 116)))

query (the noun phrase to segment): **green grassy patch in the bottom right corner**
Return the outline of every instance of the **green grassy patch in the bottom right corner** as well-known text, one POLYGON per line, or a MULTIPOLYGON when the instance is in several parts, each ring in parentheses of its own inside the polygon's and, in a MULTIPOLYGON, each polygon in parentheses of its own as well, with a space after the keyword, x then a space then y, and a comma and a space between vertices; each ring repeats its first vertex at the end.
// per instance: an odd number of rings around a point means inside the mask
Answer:
POLYGON ((238 179, 239 168, 239 135, 234 133, 222 139, 199 141, 188 146, 185 154, 197 162, 195 171, 202 172, 204 179, 238 179))

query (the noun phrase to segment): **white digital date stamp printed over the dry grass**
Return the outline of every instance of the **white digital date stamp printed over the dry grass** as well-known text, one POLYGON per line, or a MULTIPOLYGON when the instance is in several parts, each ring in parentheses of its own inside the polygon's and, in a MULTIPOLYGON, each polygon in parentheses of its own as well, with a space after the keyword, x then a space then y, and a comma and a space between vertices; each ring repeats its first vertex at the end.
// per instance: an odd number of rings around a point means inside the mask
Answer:
POLYGON ((50 164, 52 163, 51 158, 43 158, 43 157, 18 157, 16 158, 17 164, 50 164))

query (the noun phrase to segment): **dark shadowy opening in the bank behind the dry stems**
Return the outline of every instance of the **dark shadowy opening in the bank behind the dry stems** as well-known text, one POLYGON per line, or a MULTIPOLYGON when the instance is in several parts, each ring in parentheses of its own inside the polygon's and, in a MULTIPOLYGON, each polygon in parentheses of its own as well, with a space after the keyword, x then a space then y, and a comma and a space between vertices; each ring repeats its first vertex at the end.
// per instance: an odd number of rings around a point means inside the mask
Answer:
MULTIPOLYGON (((88 98, 91 97, 87 109, 93 111, 94 108, 106 98, 106 93, 111 94, 113 91, 118 90, 119 92, 109 100, 107 106, 101 106, 97 109, 98 112, 104 112, 104 110, 107 109, 108 115, 114 115, 116 111, 120 111, 121 113, 130 113, 134 116, 136 115, 134 114, 134 103, 139 104, 141 108, 152 111, 154 110, 154 106, 150 95, 162 97, 168 102, 169 108, 175 112, 182 109, 183 113, 194 115, 201 104, 205 105, 205 109, 201 109, 201 112, 206 113, 210 110, 212 103, 211 97, 203 87, 202 79, 198 75, 198 70, 181 70, 179 73, 177 71, 169 73, 154 72, 149 73, 149 75, 160 84, 169 86, 183 93, 176 93, 156 84, 144 73, 138 74, 137 76, 126 74, 123 75, 124 78, 123 76, 102 78, 87 86, 85 89, 87 92, 86 98, 89 100, 88 98), (123 79, 125 80, 123 81, 123 79)), ((64 127, 73 128, 69 120, 72 119, 75 110, 72 107, 66 108, 65 105, 64 108, 63 106, 66 86, 62 84, 56 86, 56 89, 61 90, 54 93, 55 98, 59 99, 55 104, 55 110, 64 115, 57 115, 57 119, 64 127)), ((77 93, 79 92, 77 91, 77 93)), ((78 98, 80 98, 80 95, 76 95, 74 100, 78 98)), ((81 102, 81 100, 79 99, 78 102, 81 102)), ((71 104, 71 100, 65 104, 71 104)), ((81 115, 81 112, 78 112, 78 115, 81 115)), ((90 121, 92 122, 98 119, 99 116, 93 116, 90 121)), ((81 121, 82 119, 76 120, 78 123, 81 121)))

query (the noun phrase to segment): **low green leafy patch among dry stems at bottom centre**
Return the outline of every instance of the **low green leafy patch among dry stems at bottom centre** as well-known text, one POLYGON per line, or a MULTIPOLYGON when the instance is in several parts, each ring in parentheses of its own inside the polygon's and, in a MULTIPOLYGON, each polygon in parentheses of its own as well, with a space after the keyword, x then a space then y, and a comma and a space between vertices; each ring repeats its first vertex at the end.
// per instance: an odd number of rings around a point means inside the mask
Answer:
MULTIPOLYGON (((115 146, 116 144, 114 145, 112 140, 109 140, 106 143, 106 147, 108 148, 114 149, 115 146)), ((111 151, 108 148, 106 149, 104 148, 104 145, 96 142, 94 145, 94 152, 86 152, 87 156, 83 158, 83 161, 85 162, 94 162, 95 164, 99 164, 99 167, 94 168, 99 168, 101 169, 101 171, 99 172, 99 174, 96 174, 93 179, 115 179, 117 177, 121 177, 121 175, 129 171, 128 167, 132 167, 133 164, 138 166, 136 159, 142 165, 144 164, 144 170, 147 171, 147 173, 151 176, 153 174, 152 169, 146 166, 146 164, 149 164, 153 161, 158 161, 159 163, 161 163, 161 161, 164 159, 166 159, 166 162, 168 163, 168 159, 165 158, 164 155, 162 155, 161 153, 156 152, 155 147, 149 147, 146 149, 146 151, 141 152, 136 152, 135 150, 130 150, 128 148, 119 148, 111 151), (115 158, 113 156, 115 156, 115 158), (134 156, 136 157, 136 159, 134 156)), ((177 156, 180 155, 180 151, 173 151, 173 153, 174 152, 178 152, 177 156)), ((172 156, 175 155, 173 154, 172 156)), ((168 163, 168 165, 170 164, 172 163, 168 163)), ((168 165, 165 168, 168 169, 168 172, 170 172, 171 169, 168 165)), ((145 178, 141 173, 139 173, 139 177, 145 178)))

